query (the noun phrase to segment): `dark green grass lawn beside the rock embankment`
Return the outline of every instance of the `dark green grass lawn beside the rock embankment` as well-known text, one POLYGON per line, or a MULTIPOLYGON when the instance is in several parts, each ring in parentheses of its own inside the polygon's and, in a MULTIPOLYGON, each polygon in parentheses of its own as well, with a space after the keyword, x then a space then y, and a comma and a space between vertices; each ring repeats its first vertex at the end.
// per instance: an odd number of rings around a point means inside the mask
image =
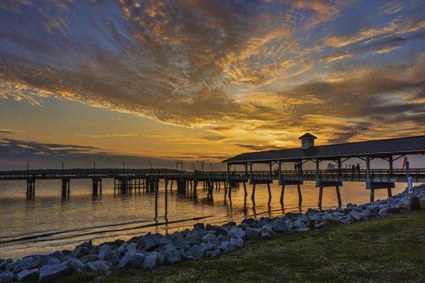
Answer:
POLYGON ((217 259, 156 270, 123 270, 106 279, 66 282, 425 282, 425 203, 416 212, 291 233, 217 259))

